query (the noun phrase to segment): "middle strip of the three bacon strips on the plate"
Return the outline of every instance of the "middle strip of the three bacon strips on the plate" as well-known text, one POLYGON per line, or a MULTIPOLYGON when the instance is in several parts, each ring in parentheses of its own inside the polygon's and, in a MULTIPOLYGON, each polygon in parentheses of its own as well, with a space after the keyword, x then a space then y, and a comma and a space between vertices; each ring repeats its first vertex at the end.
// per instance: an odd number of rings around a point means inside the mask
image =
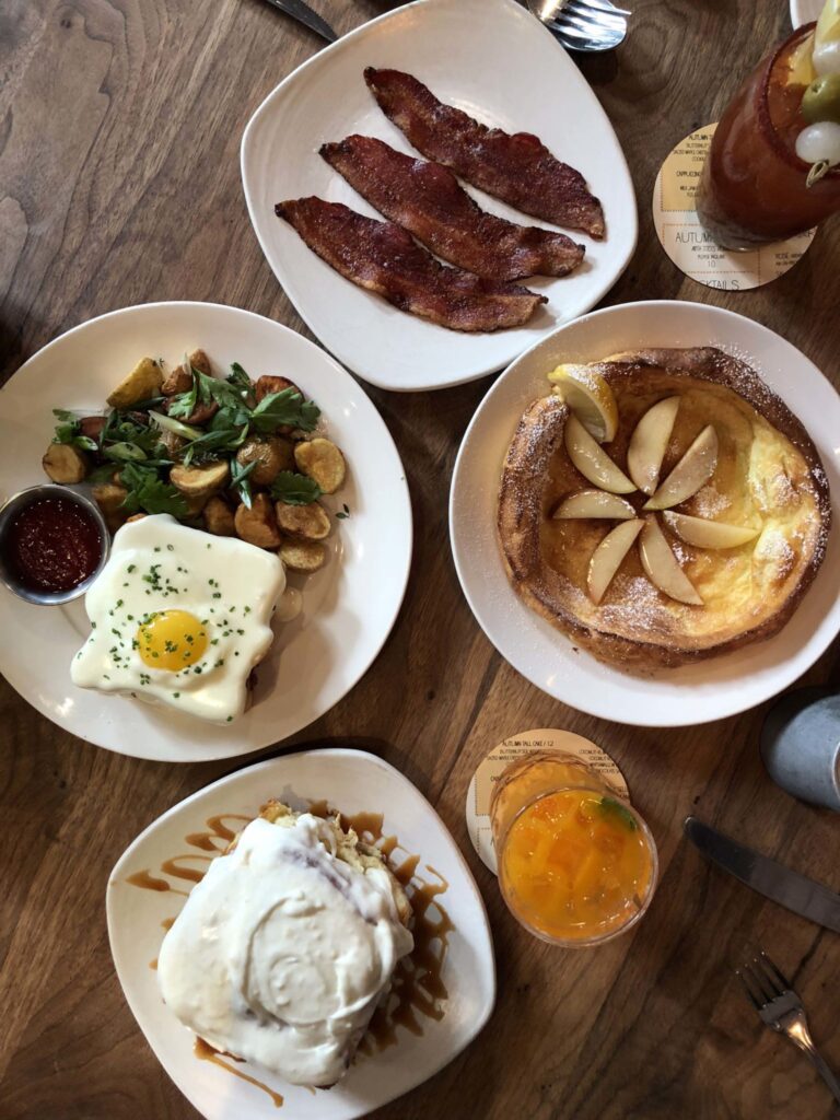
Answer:
POLYGON ((363 198, 433 253, 487 280, 562 277, 584 259, 564 233, 514 225, 480 209, 452 172, 373 137, 325 143, 320 153, 363 198))

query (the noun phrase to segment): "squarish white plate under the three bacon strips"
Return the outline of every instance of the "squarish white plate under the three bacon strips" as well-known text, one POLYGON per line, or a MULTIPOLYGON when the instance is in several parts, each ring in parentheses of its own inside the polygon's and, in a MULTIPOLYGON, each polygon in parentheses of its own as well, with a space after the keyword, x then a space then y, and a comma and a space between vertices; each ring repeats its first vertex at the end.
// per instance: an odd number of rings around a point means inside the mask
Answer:
MULTIPOLYGON (((242 181, 262 251, 301 318, 340 362, 382 389, 440 389, 501 370, 559 323, 592 307, 636 243, 633 184, 609 121, 551 32, 514 0, 418 0, 321 50, 254 113, 242 138, 242 181), (412 151, 368 92, 365 66, 405 69, 487 124, 535 132, 601 199, 606 240, 581 234, 588 263, 564 279, 530 283, 550 300, 530 324, 465 335, 405 315, 338 276, 276 217, 276 203, 305 195, 376 216, 318 155, 323 142, 352 132, 412 151)), ((494 214, 533 221, 470 193, 494 214)))

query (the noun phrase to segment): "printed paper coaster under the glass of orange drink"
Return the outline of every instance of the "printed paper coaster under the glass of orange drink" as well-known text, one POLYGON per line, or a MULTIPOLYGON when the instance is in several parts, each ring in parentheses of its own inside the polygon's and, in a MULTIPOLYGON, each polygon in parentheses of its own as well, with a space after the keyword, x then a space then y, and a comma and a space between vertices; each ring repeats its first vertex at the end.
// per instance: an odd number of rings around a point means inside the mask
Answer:
POLYGON ((571 731, 556 731, 543 728, 538 731, 523 731, 513 735, 491 750, 467 790, 467 831, 473 847, 493 874, 496 874, 496 852, 493 849, 493 832, 489 820, 489 803, 493 786, 511 763, 532 755, 535 750, 561 750, 573 755, 587 766, 600 774, 606 785, 610 786, 619 797, 627 799, 627 783, 616 764, 599 746, 582 735, 571 731))

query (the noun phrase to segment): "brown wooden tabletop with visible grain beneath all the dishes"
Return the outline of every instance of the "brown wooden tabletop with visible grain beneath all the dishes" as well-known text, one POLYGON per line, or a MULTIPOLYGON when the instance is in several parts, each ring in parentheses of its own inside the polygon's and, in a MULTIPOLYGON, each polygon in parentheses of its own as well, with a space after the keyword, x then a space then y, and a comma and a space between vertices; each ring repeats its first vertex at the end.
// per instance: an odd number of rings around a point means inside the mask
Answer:
MULTIPOLYGON (((384 7, 320 0, 339 31, 384 7)), ((840 381, 840 221, 783 279, 725 295, 676 271, 650 214, 664 155, 715 120, 747 66, 787 34, 786 2, 632 7, 617 56, 581 62, 627 153, 641 215, 636 254, 605 302, 671 297, 729 307, 778 330, 840 381)), ((3 374, 68 327, 148 300, 233 304, 302 329, 251 231, 239 143, 265 94, 319 47, 260 0, 0 4, 3 374)), ((399 766, 466 852, 493 924, 498 1002, 489 1025, 437 1077, 375 1116, 828 1118, 828 1092, 760 1026, 731 967, 750 944, 765 946, 795 980, 837 1068, 840 940, 710 870, 680 827, 693 810, 840 887, 840 824, 769 783, 757 752, 767 706, 688 730, 610 724, 543 696, 488 644, 447 544, 452 463, 488 384, 409 396, 370 390, 411 485, 412 578, 364 680, 293 740, 361 746, 399 766), (525 934, 464 825, 478 760, 507 735, 552 726, 615 756, 660 847, 650 914, 635 934, 597 951, 564 953, 525 934)), ((837 682, 837 648, 806 680, 832 673, 837 682)), ((166 766, 97 750, 8 685, 0 706, 0 1120, 194 1118, 123 1000, 103 902, 129 841, 231 764, 166 766)))

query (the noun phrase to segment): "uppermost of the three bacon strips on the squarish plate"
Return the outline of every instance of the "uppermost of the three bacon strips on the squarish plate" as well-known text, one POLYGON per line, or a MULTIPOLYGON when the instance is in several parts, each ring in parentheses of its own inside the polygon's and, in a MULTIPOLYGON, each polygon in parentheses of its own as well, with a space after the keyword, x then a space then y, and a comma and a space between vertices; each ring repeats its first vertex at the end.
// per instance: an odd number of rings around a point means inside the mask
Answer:
POLYGON ((488 129, 401 71, 368 66, 365 82, 385 115, 427 159, 524 214, 584 230, 597 240, 604 236, 604 212, 584 176, 556 159, 539 137, 488 129))

